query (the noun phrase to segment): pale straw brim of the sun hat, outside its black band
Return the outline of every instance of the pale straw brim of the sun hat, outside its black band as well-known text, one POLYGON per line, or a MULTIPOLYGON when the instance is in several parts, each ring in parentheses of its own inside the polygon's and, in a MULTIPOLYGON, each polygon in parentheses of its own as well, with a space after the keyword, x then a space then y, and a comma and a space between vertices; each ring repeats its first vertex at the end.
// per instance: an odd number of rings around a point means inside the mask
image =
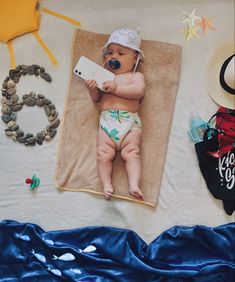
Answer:
POLYGON ((224 61, 234 54, 234 42, 220 46, 211 57, 205 75, 205 83, 209 96, 213 101, 225 108, 235 109, 235 95, 226 92, 220 85, 220 70, 224 61))

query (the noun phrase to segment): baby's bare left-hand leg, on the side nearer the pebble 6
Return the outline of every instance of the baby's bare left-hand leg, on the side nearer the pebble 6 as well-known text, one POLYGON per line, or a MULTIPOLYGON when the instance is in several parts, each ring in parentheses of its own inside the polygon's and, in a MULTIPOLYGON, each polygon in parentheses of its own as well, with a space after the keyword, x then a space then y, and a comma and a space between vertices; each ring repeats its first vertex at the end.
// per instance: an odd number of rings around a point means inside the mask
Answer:
POLYGON ((109 200, 113 193, 112 167, 116 154, 116 145, 111 138, 99 129, 97 135, 97 170, 100 182, 103 186, 104 197, 109 200))

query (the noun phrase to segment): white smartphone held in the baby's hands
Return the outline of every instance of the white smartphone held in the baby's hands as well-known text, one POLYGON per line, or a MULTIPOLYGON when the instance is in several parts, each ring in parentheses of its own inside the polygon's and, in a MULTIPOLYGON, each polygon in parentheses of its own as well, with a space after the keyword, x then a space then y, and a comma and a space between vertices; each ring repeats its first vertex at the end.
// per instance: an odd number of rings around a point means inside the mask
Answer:
POLYGON ((94 79, 97 81, 98 88, 103 89, 103 83, 107 80, 113 81, 115 74, 95 62, 91 61, 87 57, 81 56, 78 60, 74 74, 81 77, 82 79, 94 79))

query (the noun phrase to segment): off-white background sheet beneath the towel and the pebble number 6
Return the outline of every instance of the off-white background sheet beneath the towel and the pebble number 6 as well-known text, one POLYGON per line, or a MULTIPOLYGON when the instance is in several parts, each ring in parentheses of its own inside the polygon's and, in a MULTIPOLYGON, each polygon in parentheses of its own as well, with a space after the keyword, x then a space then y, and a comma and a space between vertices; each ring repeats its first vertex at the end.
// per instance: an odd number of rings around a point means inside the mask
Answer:
MULTIPOLYGON (((217 226, 234 221, 222 202, 208 192, 198 167, 193 143, 187 136, 190 113, 205 120, 217 110, 205 88, 205 68, 213 51, 234 38, 234 1, 185 0, 44 0, 41 5, 81 21, 82 29, 110 33, 120 27, 139 26, 142 38, 182 46, 180 85, 169 138, 166 163, 156 209, 124 200, 107 202, 84 192, 60 192, 54 185, 58 137, 42 146, 25 147, 5 136, 0 122, 0 219, 39 224, 46 230, 107 225, 136 231, 146 242, 152 241, 173 225, 203 224, 217 226), (182 11, 213 19, 215 30, 198 32, 200 39, 185 41, 180 32, 182 11), (38 189, 30 191, 25 179, 36 174, 38 189)), ((62 117, 70 79, 72 37, 75 26, 42 13, 40 35, 59 62, 54 67, 31 35, 14 40, 17 64, 37 63, 52 75, 53 82, 23 77, 17 93, 30 91, 51 99, 62 117)), ((0 44, 0 81, 10 68, 8 50, 0 44)), ((157 95, 157 93, 156 93, 157 95)), ((76 110, 76 109, 74 109, 76 110)), ((25 132, 36 133, 47 125, 45 113, 24 107, 17 123, 25 132)), ((156 152, 153 152, 153 154, 156 152)))

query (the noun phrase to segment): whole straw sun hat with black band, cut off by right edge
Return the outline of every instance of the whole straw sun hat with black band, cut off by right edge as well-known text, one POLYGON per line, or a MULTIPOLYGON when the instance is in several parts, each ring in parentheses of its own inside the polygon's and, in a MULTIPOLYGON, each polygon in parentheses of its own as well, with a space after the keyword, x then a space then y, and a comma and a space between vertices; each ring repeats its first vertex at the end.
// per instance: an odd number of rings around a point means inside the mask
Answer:
POLYGON ((220 106, 235 110, 235 50, 234 42, 220 46, 206 69, 206 88, 220 106))

